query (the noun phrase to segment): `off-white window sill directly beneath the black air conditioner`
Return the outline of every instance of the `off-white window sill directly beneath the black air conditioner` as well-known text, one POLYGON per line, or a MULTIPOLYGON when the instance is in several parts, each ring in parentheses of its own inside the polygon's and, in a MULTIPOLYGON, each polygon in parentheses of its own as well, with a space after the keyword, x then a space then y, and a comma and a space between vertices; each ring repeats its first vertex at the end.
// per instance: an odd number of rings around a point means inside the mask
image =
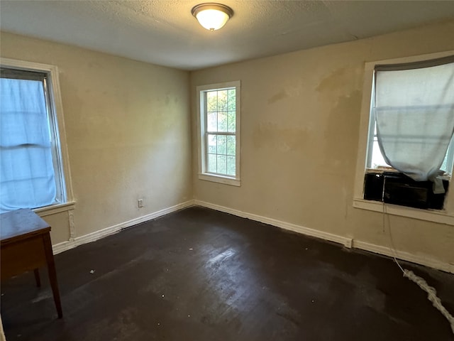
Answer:
POLYGON ((454 225, 454 216, 448 215, 444 210, 421 210, 413 207, 384 204, 379 201, 358 198, 353 199, 353 207, 375 212, 386 212, 389 215, 399 215, 401 217, 426 220, 428 222, 454 225))

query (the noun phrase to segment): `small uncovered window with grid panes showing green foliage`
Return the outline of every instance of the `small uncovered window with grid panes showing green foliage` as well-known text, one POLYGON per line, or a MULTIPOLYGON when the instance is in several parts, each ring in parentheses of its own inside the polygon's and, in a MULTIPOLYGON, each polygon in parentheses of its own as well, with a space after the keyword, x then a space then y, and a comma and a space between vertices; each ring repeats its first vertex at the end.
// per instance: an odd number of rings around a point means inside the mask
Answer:
POLYGON ((240 82, 197 87, 199 178, 240 185, 240 82))

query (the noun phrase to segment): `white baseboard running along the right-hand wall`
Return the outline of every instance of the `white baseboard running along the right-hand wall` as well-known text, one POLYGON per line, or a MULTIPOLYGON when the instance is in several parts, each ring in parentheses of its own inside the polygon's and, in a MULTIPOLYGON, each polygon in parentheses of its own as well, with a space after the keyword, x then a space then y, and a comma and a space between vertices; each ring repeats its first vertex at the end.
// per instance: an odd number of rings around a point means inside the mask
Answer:
POLYGON ((298 232, 301 234, 306 234, 311 237, 326 239, 331 242, 336 242, 343 244, 345 247, 353 247, 355 249, 362 249, 365 251, 370 251, 375 254, 382 254, 385 256, 395 256, 398 259, 404 261, 411 261, 412 263, 421 264, 424 266, 429 266, 434 269, 450 272, 454 274, 454 264, 445 263, 437 259, 432 259, 426 256, 418 256, 416 254, 411 254, 406 251, 392 251, 389 247, 383 247, 376 244, 370 244, 367 242, 362 242, 357 239, 352 239, 351 237, 343 237, 338 234, 331 234, 328 232, 319 231, 318 229, 309 229, 308 227, 302 227, 297 224, 290 224, 288 222, 282 222, 280 220, 275 220, 268 217, 262 217, 260 215, 253 215, 252 213, 243 212, 240 210, 234 210, 229 207, 224 207, 220 205, 211 204, 209 202, 204 202, 201 200, 194 200, 194 205, 211 208, 216 211, 230 213, 231 215, 236 215, 238 217, 248 218, 250 220, 255 220, 257 222, 263 222, 265 224, 270 224, 282 229, 288 229, 290 231, 298 232))

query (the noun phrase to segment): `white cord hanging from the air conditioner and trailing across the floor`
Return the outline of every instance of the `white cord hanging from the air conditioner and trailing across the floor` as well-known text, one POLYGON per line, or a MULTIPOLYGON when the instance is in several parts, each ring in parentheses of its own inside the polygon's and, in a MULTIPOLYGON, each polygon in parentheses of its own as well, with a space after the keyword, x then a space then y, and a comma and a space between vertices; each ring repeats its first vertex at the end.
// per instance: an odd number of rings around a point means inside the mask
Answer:
MULTIPOLYGON (((384 186, 383 186, 384 187, 384 186)), ((383 232, 384 232, 384 217, 387 215, 386 212, 386 204, 383 202, 383 232)), ((451 330, 453 330, 454 334, 454 316, 449 313, 449 311, 443 306, 441 303, 441 299, 438 298, 437 296, 437 291, 435 288, 432 286, 429 286, 428 283, 424 280, 424 278, 421 278, 414 274, 413 271, 403 269, 402 266, 399 264, 399 261, 397 261, 396 258, 396 247, 394 247, 394 241, 392 240, 392 234, 391 234, 391 223, 388 222, 388 231, 389 231, 389 240, 391 242, 391 247, 389 248, 393 256, 392 258, 396 262, 397 266, 399 266, 399 269, 401 269, 402 273, 404 274, 404 277, 409 278, 410 281, 413 281, 414 283, 418 284, 419 288, 421 288, 423 291, 426 291, 427 293, 427 299, 428 301, 431 301, 433 306, 437 308, 441 314, 448 320, 451 326, 451 330)))

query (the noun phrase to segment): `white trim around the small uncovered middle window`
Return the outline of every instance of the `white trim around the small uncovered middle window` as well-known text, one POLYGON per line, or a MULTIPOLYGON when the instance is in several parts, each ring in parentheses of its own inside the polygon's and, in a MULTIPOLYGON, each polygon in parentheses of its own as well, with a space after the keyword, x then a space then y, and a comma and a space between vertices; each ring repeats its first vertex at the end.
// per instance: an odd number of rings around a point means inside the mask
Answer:
POLYGON ((223 183, 226 185, 240 186, 240 88, 241 82, 239 80, 233 82, 223 82, 210 85, 200 85, 196 87, 197 101, 197 144, 198 148, 198 159, 199 159, 199 180, 212 181, 215 183, 223 183), (226 88, 235 87, 236 89, 236 176, 231 177, 227 175, 214 174, 206 172, 206 144, 205 133, 206 133, 206 121, 204 112, 204 98, 201 97, 201 92, 206 90, 222 90, 226 88))

